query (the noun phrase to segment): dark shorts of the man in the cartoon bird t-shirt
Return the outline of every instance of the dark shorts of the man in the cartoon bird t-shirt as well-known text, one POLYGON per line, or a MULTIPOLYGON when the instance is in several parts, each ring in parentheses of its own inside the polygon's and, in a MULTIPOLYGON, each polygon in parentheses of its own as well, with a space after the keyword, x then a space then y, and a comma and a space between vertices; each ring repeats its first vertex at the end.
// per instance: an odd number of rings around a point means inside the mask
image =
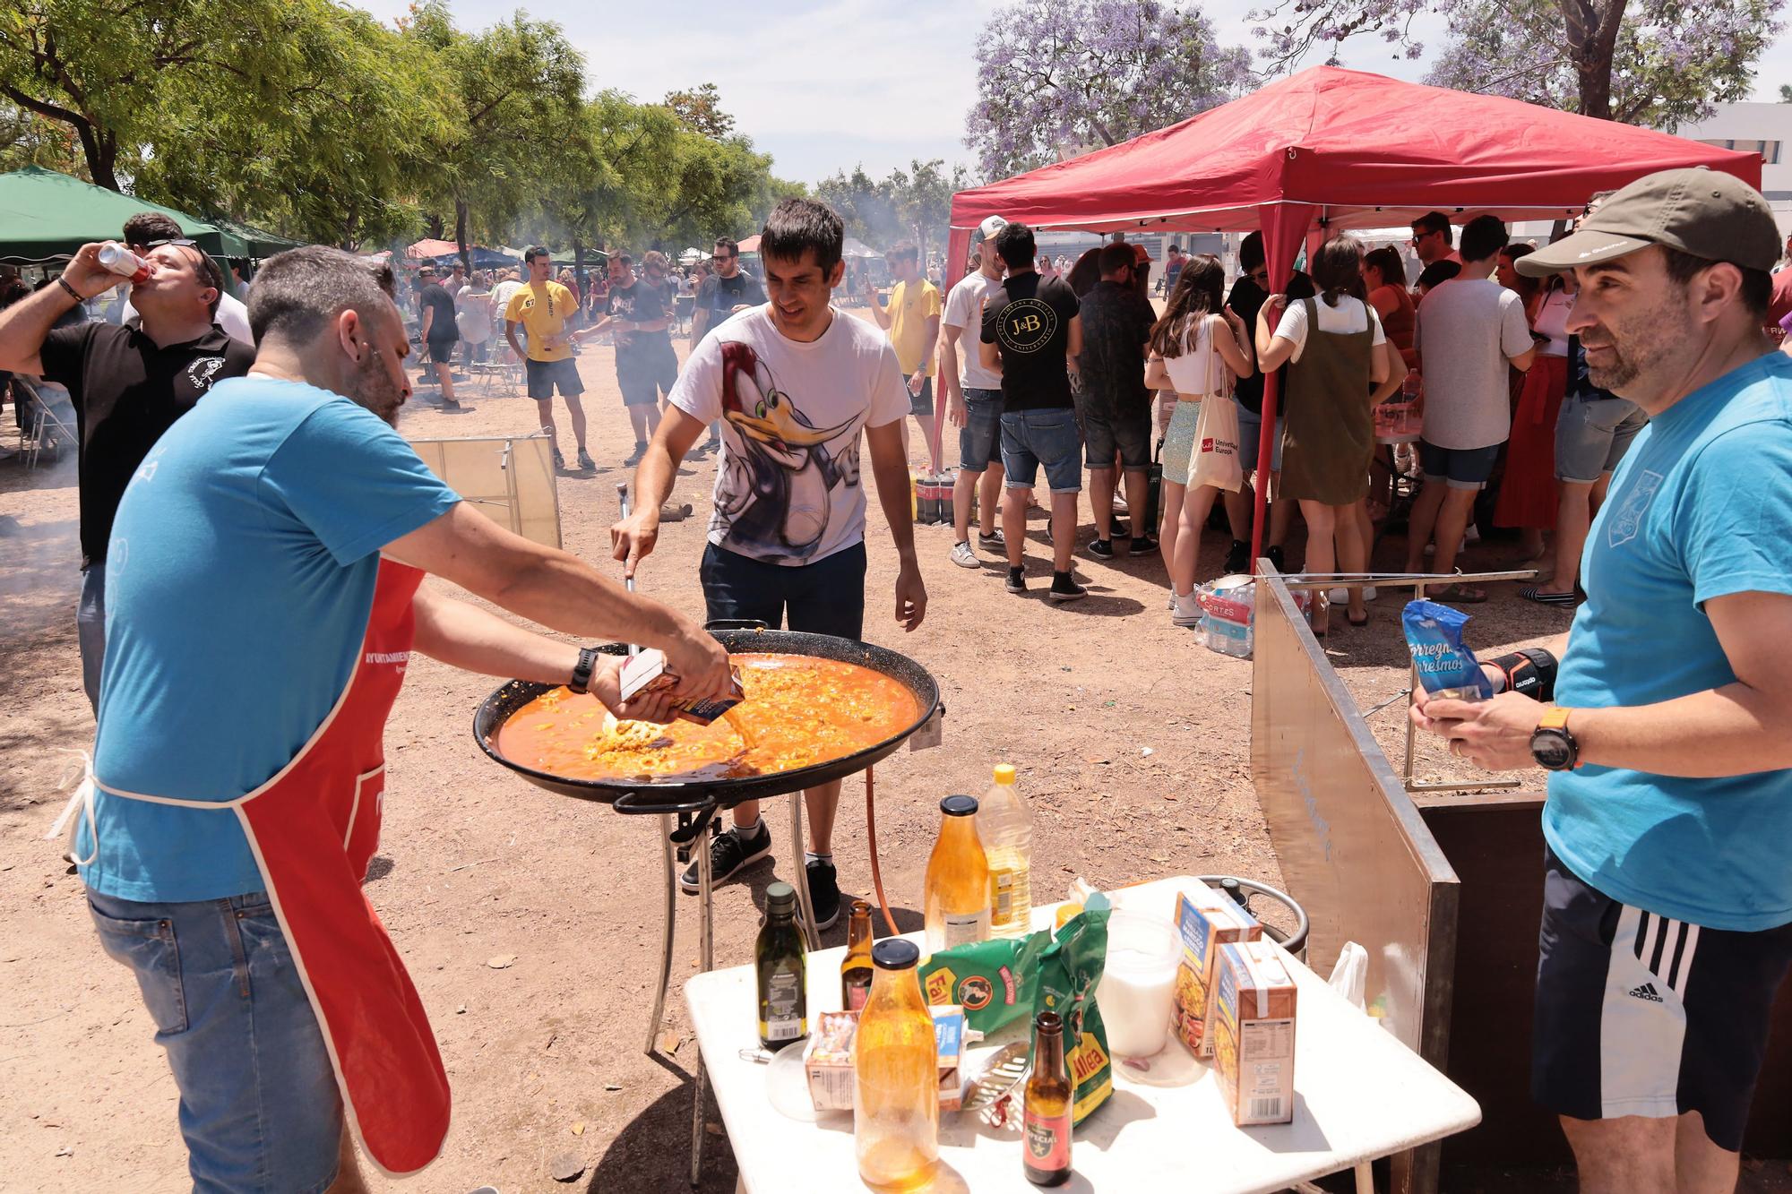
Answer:
POLYGON ((866 545, 812 565, 774 565, 710 543, 697 570, 711 622, 753 619, 778 629, 862 638, 866 629, 866 545))

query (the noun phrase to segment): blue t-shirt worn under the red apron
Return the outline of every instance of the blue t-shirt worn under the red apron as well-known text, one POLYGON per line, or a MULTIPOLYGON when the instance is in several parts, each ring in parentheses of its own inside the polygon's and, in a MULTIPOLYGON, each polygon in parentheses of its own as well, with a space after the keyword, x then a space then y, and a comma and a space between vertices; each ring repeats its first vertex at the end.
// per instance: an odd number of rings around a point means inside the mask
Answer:
MULTIPOLYGON (((380 549, 459 497, 378 416, 330 391, 219 382, 151 448, 113 523, 93 773, 177 800, 235 800, 305 746, 355 667, 380 549)), ((231 812, 95 794, 122 900, 265 887, 231 812)), ((91 852, 82 825, 77 857, 91 852)))

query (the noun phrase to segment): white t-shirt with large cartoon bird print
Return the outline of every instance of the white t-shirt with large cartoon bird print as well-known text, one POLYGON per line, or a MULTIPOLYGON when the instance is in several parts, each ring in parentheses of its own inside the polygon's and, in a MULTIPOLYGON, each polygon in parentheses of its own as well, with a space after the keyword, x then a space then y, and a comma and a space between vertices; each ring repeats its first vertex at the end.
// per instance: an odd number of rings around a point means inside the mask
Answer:
POLYGON ((909 416, 878 328, 835 310, 821 339, 801 344, 765 305, 702 337, 668 402, 702 423, 722 420, 710 541, 790 567, 864 541, 862 432, 909 416))

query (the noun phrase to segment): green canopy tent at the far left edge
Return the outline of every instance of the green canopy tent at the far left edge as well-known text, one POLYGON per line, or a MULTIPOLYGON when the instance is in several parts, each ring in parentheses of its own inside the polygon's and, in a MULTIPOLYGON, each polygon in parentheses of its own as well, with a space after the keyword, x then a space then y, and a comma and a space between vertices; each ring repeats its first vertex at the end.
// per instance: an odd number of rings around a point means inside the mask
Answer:
POLYGON ((138 212, 172 217, 211 256, 253 256, 242 237, 199 217, 56 170, 25 167, 0 174, 0 262, 66 260, 90 240, 115 240, 125 219, 138 212))

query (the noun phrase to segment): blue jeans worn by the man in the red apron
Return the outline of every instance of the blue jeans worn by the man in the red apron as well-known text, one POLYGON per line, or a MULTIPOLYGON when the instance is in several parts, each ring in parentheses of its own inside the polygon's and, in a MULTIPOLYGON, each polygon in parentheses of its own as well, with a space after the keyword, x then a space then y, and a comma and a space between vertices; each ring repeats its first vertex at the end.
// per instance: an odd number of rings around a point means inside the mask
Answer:
POLYGON ((267 896, 138 904, 90 891, 88 911, 168 1052, 194 1190, 330 1189, 342 1101, 267 896))

